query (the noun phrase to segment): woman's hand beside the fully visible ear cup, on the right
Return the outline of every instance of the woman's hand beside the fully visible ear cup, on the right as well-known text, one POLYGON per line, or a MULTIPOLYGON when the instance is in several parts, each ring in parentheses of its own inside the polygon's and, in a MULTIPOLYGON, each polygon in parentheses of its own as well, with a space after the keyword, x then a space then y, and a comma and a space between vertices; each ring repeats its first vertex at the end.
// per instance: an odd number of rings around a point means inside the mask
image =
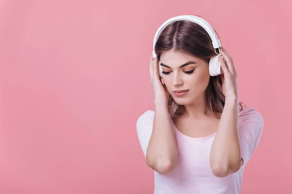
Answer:
POLYGON ((237 72, 235 70, 232 58, 223 47, 221 47, 220 52, 225 60, 224 62, 224 60, 219 57, 221 68, 223 70, 223 74, 220 75, 223 94, 225 96, 225 99, 238 99, 237 72))

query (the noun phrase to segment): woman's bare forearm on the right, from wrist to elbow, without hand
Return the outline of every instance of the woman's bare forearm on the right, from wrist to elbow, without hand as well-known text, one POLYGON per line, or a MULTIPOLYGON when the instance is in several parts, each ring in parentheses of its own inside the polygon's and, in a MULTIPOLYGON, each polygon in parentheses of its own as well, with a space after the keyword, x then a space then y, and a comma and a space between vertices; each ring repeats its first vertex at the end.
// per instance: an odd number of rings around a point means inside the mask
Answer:
POLYGON ((238 137, 238 106, 236 97, 225 99, 210 152, 210 166, 212 173, 217 177, 225 177, 236 172, 243 163, 238 137))

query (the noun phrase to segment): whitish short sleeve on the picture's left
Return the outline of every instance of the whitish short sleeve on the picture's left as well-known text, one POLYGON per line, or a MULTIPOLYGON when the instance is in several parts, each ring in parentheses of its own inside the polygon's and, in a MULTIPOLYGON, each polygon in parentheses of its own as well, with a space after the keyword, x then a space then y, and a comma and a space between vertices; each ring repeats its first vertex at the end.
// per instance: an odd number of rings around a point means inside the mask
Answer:
POLYGON ((152 134, 153 120, 154 112, 149 110, 140 115, 136 123, 138 139, 145 157, 150 137, 152 134))

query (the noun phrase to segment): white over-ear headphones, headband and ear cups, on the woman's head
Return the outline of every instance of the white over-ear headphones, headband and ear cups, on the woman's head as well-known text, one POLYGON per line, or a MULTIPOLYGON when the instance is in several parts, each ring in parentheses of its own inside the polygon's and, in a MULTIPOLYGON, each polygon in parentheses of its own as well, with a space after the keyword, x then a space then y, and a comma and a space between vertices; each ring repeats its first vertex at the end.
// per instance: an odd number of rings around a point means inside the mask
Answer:
MULTIPOLYGON (((171 22, 173 21, 179 21, 179 20, 188 20, 188 21, 192 21, 196 24, 199 24, 202 28, 204 28, 206 30, 206 32, 208 32, 211 40, 212 40, 212 45, 213 48, 215 50, 215 53, 217 54, 217 56, 215 57, 211 57, 210 62, 209 62, 209 74, 210 76, 217 76, 223 73, 223 71, 221 71, 220 68, 220 61, 219 61, 219 57, 221 56, 220 53, 220 49, 219 49, 219 54, 216 52, 216 49, 221 47, 221 42, 218 39, 217 34, 215 33, 214 29, 212 28, 212 26, 203 18, 199 17, 199 16, 193 16, 193 15, 182 15, 182 16, 175 16, 172 17, 168 20, 166 20, 157 30, 157 32, 155 33, 154 39, 153 39, 153 51, 152 51, 152 55, 153 58, 155 59, 157 57, 156 53, 155 53, 155 44, 157 41, 157 38, 159 37, 160 33, 164 30, 164 28, 171 22)), ((153 60, 154 61, 154 60, 153 60)), ((159 74, 160 77, 162 77, 162 67, 161 65, 159 65, 159 74)))

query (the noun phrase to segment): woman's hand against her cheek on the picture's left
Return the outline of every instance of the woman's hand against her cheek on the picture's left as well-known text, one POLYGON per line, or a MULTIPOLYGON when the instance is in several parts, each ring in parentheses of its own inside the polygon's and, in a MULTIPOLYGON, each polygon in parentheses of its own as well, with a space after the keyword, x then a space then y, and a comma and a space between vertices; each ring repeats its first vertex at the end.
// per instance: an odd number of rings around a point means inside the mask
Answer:
POLYGON ((155 101, 165 101, 168 102, 169 92, 166 89, 166 86, 162 84, 161 78, 159 76, 159 66, 157 57, 153 62, 153 56, 151 54, 150 58, 150 83, 154 92, 154 102, 155 101))

